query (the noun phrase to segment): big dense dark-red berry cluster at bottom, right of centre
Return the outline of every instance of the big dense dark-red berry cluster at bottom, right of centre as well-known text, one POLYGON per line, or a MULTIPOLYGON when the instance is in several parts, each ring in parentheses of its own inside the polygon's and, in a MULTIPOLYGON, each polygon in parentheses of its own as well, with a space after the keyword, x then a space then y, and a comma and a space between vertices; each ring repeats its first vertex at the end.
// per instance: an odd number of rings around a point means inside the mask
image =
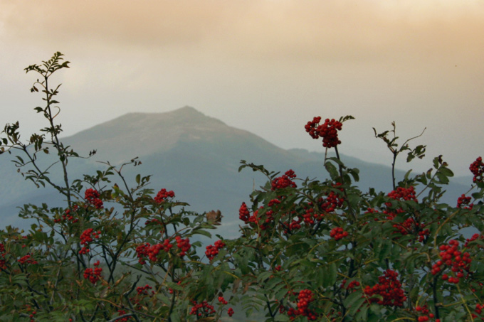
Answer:
POLYGON ((399 274, 391 269, 386 269, 384 276, 378 278, 378 284, 373 287, 365 286, 364 294, 370 303, 377 303, 384 306, 402 306, 406 300, 401 283, 396 278, 399 274), (372 297, 379 295, 380 297, 372 297))

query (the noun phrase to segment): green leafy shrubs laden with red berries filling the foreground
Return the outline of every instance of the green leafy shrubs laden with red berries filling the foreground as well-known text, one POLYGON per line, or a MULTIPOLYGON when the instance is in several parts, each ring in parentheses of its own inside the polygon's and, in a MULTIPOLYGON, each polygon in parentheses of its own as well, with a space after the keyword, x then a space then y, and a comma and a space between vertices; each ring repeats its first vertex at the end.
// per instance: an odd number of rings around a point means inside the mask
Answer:
MULTIPOLYGON (((137 159, 71 178, 69 161, 83 156, 58 137, 60 85, 49 83, 68 65, 56 53, 26 68, 39 75, 31 91, 42 93, 45 106, 36 112, 48 125, 23 142, 19 124, 6 124, 0 138, 0 153, 12 154, 27 180, 65 200, 63 207, 24 205, 21 218, 36 220, 31 229, 0 231, 1 321, 484 320, 480 157, 470 164, 470 189, 452 205, 441 201, 453 176, 441 156, 399 182, 392 171, 391 191, 362 191, 359 170, 338 151, 338 132, 353 117, 315 117, 305 131, 335 150, 322 164, 329 178, 241 161, 239 170, 257 171, 267 183, 234 205, 240 237, 206 246, 196 235, 211 237, 221 214, 186 210, 169 187, 147 188, 149 176, 131 186, 123 168, 137 159), (55 163, 45 166, 44 155, 55 163), (480 233, 465 238, 466 227, 480 233)), ((425 146, 399 144, 392 125, 375 136, 391 151, 394 170, 399 154, 422 158, 425 146)))

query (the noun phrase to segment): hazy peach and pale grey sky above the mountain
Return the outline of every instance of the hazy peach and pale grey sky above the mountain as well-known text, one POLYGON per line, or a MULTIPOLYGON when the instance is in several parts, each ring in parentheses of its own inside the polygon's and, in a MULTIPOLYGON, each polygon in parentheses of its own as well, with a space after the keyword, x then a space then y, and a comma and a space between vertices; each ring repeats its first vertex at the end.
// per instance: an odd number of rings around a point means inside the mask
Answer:
POLYGON ((23 68, 56 51, 66 135, 189 105, 285 149, 322 151, 305 123, 352 114, 343 154, 390 163, 372 127, 392 121, 427 128, 413 168, 443 154, 470 174, 484 154, 483 0, 0 0, 2 127, 34 129, 23 68))

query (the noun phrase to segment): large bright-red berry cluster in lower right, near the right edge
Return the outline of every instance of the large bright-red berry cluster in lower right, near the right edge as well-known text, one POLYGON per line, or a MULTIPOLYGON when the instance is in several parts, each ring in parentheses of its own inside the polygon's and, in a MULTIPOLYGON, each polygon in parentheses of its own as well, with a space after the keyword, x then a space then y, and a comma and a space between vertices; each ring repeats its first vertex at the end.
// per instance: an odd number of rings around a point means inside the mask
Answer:
POLYGON ((456 274, 456 277, 449 277, 448 274, 443 274, 442 279, 454 284, 457 284, 464 277, 463 271, 469 272, 470 262, 472 262, 470 254, 468 252, 462 253, 458 250, 458 245, 459 242, 457 240, 449 240, 448 245, 438 247, 441 250, 439 253, 441 260, 433 264, 431 269, 431 273, 436 275, 441 272, 443 265, 451 267, 451 271, 456 274))

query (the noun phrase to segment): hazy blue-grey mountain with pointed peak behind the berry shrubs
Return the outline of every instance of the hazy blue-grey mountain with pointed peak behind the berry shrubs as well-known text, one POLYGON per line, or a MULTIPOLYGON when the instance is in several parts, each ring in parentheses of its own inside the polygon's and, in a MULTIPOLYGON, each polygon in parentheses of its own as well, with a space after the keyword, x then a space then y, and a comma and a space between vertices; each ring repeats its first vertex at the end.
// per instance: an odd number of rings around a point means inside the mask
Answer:
MULTIPOLYGON (((120 165, 138 156, 142 164, 124 169, 130 182, 135 175, 152 175, 151 188, 174 190, 178 200, 191 205, 191 210, 221 210, 223 225, 218 232, 231 236, 238 230, 238 208, 253 187, 264 178, 253 171, 238 173, 240 161, 263 164, 271 171, 292 168, 300 178, 327 178, 322 153, 304 149, 280 149, 259 136, 229 127, 218 119, 207 117, 193 107, 182 107, 166 113, 130 113, 63 139, 80 155, 97 150, 90 159, 70 161, 71 181, 83 173, 105 168, 96 161, 120 165)), ((0 156, 0 209, 6 225, 26 227, 17 217, 16 207, 24 203, 56 205, 61 198, 50 188, 35 188, 23 180, 11 162, 11 156, 0 156)), ((359 186, 363 190, 391 190, 391 168, 342 156, 347 166, 359 168, 359 186)), ((431 161, 428 161, 431 164, 431 161)), ((48 160, 45 164, 48 164, 48 160)), ((58 170, 58 169, 57 169, 58 170)), ((51 169, 61 180, 60 172, 51 169)), ((403 178, 403 171, 396 171, 403 178)), ((114 181, 116 181, 115 179, 114 181)), ((455 203, 458 195, 468 190, 470 178, 456 178, 448 186, 446 202, 455 203)))

